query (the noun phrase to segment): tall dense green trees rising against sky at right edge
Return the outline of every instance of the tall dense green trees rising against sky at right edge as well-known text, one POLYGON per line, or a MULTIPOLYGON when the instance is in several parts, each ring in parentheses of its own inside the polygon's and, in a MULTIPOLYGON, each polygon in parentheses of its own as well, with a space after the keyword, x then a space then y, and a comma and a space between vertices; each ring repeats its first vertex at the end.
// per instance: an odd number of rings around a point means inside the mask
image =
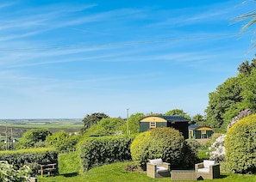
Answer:
POLYGON ((256 69, 255 59, 249 64, 249 69, 243 68, 247 64, 241 64, 240 73, 228 78, 219 85, 215 92, 209 93, 209 106, 207 124, 213 128, 226 130, 229 121, 246 108, 252 113, 256 112, 256 69))

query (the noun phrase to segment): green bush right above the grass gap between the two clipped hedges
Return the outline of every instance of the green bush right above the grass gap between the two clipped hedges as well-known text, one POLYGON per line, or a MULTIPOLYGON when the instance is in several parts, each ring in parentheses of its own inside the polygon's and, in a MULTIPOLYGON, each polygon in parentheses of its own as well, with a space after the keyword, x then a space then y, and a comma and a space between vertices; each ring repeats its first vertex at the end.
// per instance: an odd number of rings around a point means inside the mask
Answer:
POLYGON ((57 149, 59 152, 76 150, 76 145, 80 136, 69 134, 66 131, 53 133, 46 139, 47 146, 57 149))

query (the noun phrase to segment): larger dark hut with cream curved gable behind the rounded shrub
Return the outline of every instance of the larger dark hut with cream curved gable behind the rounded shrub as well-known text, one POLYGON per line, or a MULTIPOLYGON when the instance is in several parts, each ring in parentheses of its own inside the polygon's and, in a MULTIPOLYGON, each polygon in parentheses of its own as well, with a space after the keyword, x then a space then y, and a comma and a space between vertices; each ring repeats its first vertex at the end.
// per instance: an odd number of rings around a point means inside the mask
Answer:
POLYGON ((140 119, 140 132, 159 127, 172 127, 179 130, 185 139, 189 136, 189 119, 181 116, 147 116, 140 119))

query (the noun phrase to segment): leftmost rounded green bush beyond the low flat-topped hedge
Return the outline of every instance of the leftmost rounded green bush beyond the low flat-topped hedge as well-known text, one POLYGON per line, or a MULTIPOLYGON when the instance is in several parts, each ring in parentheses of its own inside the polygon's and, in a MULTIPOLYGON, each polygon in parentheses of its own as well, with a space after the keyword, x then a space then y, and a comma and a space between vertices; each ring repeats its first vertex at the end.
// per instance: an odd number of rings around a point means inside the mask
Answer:
POLYGON ((47 136, 51 135, 48 129, 32 129, 26 131, 22 138, 16 143, 16 149, 28 149, 36 146, 36 143, 42 143, 47 136))

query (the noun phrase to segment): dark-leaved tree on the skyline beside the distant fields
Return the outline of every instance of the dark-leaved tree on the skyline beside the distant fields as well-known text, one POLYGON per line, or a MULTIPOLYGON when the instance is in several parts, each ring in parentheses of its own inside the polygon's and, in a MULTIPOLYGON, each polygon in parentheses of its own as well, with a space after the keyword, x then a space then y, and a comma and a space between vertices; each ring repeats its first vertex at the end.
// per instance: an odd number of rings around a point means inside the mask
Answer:
POLYGON ((84 128, 82 131, 88 130, 92 125, 97 124, 103 118, 109 118, 109 116, 103 112, 95 112, 91 115, 87 114, 83 119, 84 128))

